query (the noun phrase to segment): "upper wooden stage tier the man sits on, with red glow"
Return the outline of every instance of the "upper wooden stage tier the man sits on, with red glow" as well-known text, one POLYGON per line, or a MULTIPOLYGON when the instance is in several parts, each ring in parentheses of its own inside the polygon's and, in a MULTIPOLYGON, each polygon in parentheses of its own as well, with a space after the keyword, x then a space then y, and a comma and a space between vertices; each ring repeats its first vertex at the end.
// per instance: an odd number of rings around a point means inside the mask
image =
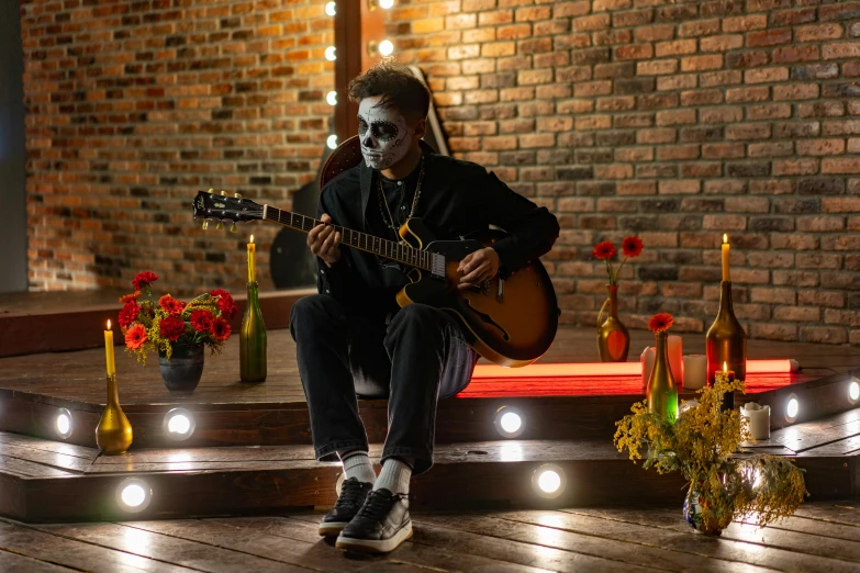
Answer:
MULTIPOLYGON (((649 333, 634 332, 633 356, 650 344, 649 333)), ((704 350, 700 335, 684 336, 688 353, 704 350)), ((809 404, 829 409, 803 408, 802 419, 841 412, 851 407, 842 398, 845 385, 860 364, 860 349, 817 345, 751 340, 750 358, 800 360, 798 374, 756 375, 748 381, 748 395, 738 404, 756 400, 772 403, 789 392, 808 394, 809 404), (836 398, 815 396, 833 389, 836 398)), ((591 329, 562 328, 543 361, 596 360, 591 329)), ((120 398, 135 438, 133 448, 175 448, 165 437, 164 415, 185 407, 197 416, 194 435, 181 447, 297 445, 310 443, 304 392, 295 364, 295 347, 288 330, 269 336, 269 377, 263 384, 238 381, 238 342, 230 341, 224 353, 206 357, 200 386, 193 393, 171 393, 161 382, 153 358, 146 368, 118 351, 120 398)), ((55 439, 53 423, 58 408, 72 414, 70 443, 94 447, 94 428, 105 400, 101 349, 40 353, 0 359, 0 430, 55 439)), ((527 369, 523 370, 527 372, 527 369)), ((828 394, 829 395, 829 394, 828 394)), ((612 435, 615 420, 633 402, 643 400, 639 377, 474 380, 456 398, 438 408, 437 441, 481 441, 499 439, 493 426, 498 409, 515 406, 527 417, 523 439, 593 439, 612 435)), ((686 397, 694 397, 686 395, 686 397)), ((361 415, 371 441, 381 442, 387 430, 387 403, 361 401, 361 415)), ((774 427, 779 427, 774 416, 774 427)))

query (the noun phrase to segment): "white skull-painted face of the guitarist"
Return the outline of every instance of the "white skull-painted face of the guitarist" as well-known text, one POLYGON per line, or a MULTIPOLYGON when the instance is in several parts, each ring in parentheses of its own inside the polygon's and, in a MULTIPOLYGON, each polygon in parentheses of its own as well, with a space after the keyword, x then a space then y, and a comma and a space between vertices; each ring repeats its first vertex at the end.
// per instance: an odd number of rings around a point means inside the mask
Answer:
POLYGON ((379 108, 382 98, 365 98, 358 105, 358 138, 361 155, 371 169, 388 169, 409 151, 410 130, 406 119, 393 108, 379 108))

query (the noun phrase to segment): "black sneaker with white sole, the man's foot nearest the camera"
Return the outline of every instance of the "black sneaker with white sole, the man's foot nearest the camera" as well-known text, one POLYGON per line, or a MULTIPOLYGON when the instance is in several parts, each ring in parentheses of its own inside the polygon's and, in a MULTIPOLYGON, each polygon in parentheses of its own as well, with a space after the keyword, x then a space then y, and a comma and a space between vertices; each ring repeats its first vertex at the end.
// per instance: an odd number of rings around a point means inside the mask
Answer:
POLYGON ((412 537, 412 519, 404 499, 388 490, 375 490, 361 510, 340 531, 335 547, 365 553, 388 553, 412 537))

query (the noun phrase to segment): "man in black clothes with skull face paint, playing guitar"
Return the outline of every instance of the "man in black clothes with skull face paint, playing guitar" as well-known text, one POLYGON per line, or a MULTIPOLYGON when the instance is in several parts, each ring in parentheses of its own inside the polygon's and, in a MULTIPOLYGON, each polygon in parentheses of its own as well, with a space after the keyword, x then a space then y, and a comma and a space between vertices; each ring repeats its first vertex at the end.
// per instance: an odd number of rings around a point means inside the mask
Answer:
POLYGON ((406 68, 382 63, 349 86, 359 103, 364 162, 323 189, 308 236, 317 256, 320 294, 299 301, 290 329, 311 414, 317 459, 342 460, 345 481, 320 533, 337 547, 387 552, 412 536, 409 485, 433 464, 436 402, 460 392, 477 353, 470 333, 444 311, 399 308, 409 280, 399 263, 342 248, 330 225, 398 240, 410 217, 431 224, 439 239, 490 225, 509 236, 460 263, 460 288, 515 271, 547 252, 556 217, 514 193, 493 173, 431 153, 422 143, 429 91, 406 68), (377 478, 356 396, 389 400, 389 431, 377 478))

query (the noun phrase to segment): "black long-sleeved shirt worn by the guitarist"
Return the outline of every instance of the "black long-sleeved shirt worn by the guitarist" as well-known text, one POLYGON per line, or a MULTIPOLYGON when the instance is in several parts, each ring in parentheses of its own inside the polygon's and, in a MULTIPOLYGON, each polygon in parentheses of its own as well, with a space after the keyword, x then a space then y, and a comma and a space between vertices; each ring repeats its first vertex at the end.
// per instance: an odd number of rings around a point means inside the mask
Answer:
MULTIPOLYGON (((429 223, 437 239, 469 236, 490 225, 504 229, 510 235, 493 244, 502 276, 548 252, 558 238, 555 215, 512 191, 483 167, 431 153, 425 153, 424 164, 421 196, 413 216, 429 223)), ((379 177, 361 161, 330 181, 320 196, 317 218, 327 213, 336 225, 394 238, 393 234, 380 233, 379 177)), ((406 194, 407 209, 413 194, 414 189, 406 194)), ((391 211, 394 213, 394 205, 391 211)), ((401 218, 397 213, 394 217, 401 218)), ((340 260, 332 268, 317 260, 320 293, 337 299, 350 315, 383 319, 395 311, 394 295, 409 283, 400 266, 346 246, 340 250, 340 260)))

